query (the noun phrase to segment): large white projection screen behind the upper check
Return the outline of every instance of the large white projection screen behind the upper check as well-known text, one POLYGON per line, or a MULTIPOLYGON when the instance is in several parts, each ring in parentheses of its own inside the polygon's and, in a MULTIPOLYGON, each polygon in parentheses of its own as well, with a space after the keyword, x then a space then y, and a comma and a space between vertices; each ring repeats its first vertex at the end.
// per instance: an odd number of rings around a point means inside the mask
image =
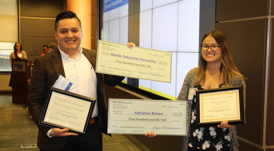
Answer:
POLYGON ((176 100, 198 66, 200 0, 103 0, 102 9, 102 40, 172 52, 171 83, 137 80, 139 89, 176 100))

